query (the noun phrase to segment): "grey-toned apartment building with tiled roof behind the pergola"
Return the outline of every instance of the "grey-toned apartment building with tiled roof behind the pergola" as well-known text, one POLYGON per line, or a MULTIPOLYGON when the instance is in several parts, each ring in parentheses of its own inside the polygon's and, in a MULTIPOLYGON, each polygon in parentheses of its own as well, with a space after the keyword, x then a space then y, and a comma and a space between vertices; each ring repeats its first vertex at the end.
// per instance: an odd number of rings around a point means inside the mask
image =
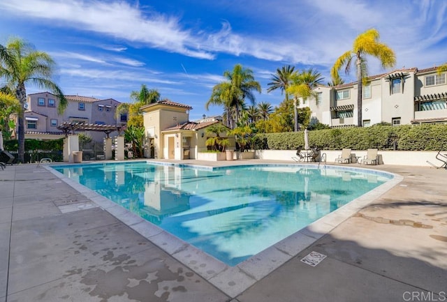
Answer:
MULTIPOLYGON (((57 126, 64 122, 122 126, 127 121, 126 114, 116 118, 116 107, 120 102, 112 98, 100 100, 87 96, 66 96, 66 99, 68 106, 64 114, 59 115, 57 96, 50 92, 29 94, 27 103, 24 105, 25 137, 36 139, 61 137, 62 133, 57 126)), ((105 137, 104 133, 87 132, 87 134, 96 142, 102 142, 105 137)), ((111 135, 114 136, 117 133, 111 135)))

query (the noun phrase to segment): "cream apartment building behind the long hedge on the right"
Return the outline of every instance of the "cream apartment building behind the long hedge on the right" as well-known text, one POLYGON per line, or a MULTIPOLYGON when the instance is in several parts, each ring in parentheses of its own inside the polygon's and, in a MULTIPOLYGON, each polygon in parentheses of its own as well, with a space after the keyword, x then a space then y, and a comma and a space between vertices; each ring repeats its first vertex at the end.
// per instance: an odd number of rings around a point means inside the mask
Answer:
MULTIPOLYGON (((316 96, 300 100, 310 107, 311 123, 331 127, 357 125, 357 82, 321 85, 316 96)), ((387 122, 392 125, 447 123, 446 73, 437 68, 402 68, 368 78, 362 87, 362 126, 387 122)))

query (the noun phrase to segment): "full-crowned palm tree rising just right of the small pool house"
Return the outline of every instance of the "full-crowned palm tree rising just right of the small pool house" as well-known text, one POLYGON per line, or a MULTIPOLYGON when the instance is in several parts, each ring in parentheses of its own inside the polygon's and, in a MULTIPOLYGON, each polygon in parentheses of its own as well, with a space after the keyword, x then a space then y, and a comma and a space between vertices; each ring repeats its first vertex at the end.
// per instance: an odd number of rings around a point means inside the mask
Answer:
POLYGON ((234 128, 240 116, 240 109, 244 106, 245 99, 252 104, 255 102, 253 91, 261 93, 261 84, 254 80, 253 71, 236 64, 233 71, 226 70, 223 73, 226 81, 215 85, 212 89, 210 100, 205 104, 208 110, 210 105, 223 105, 227 113, 228 126, 234 128), (234 108, 234 119, 230 118, 231 109, 234 108), (232 123, 232 121, 234 121, 232 123))

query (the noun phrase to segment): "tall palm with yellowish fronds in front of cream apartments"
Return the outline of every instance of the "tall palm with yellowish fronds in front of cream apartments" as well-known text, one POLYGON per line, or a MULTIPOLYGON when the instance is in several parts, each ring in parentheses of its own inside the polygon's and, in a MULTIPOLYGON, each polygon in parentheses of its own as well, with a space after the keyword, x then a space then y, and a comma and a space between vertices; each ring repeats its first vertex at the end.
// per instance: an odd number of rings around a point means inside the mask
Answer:
POLYGON ((351 62, 356 59, 357 67, 357 126, 362 126, 362 88, 367 79, 367 62, 366 55, 376 57, 381 61, 383 68, 391 68, 395 66, 396 56, 388 45, 379 42, 379 31, 376 29, 368 29, 364 33, 360 33, 354 40, 352 50, 348 50, 335 61, 334 66, 330 70, 332 80, 337 80, 339 70, 345 67, 346 73, 349 73, 351 62))

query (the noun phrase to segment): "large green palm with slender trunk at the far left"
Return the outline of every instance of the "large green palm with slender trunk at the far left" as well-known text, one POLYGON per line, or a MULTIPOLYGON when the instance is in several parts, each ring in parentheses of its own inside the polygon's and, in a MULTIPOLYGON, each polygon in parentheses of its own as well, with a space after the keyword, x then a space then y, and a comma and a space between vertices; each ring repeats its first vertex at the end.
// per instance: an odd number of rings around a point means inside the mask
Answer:
POLYGON ((20 38, 11 38, 6 46, 0 45, 0 77, 15 91, 20 102, 18 112, 18 160, 24 162, 25 130, 24 103, 27 100, 25 84, 31 82, 41 89, 48 89, 59 98, 58 112, 63 113, 68 101, 57 84, 52 81, 55 63, 45 52, 35 50, 34 46, 20 38))

